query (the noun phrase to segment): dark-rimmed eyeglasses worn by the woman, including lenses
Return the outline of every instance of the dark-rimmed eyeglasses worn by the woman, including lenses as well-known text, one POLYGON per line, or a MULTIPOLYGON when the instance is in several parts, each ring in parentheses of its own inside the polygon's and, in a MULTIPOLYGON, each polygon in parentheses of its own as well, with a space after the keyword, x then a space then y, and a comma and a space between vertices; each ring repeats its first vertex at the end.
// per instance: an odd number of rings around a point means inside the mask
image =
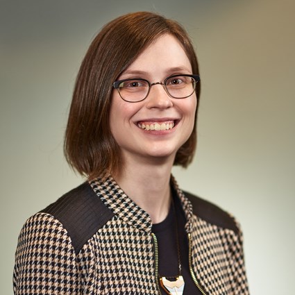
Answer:
POLYGON ((153 85, 160 84, 167 94, 174 99, 185 99, 191 96, 196 90, 196 83, 200 81, 198 75, 173 75, 162 82, 150 83, 146 79, 131 78, 119 80, 113 83, 121 96, 121 99, 130 103, 143 101, 149 95, 153 85))

